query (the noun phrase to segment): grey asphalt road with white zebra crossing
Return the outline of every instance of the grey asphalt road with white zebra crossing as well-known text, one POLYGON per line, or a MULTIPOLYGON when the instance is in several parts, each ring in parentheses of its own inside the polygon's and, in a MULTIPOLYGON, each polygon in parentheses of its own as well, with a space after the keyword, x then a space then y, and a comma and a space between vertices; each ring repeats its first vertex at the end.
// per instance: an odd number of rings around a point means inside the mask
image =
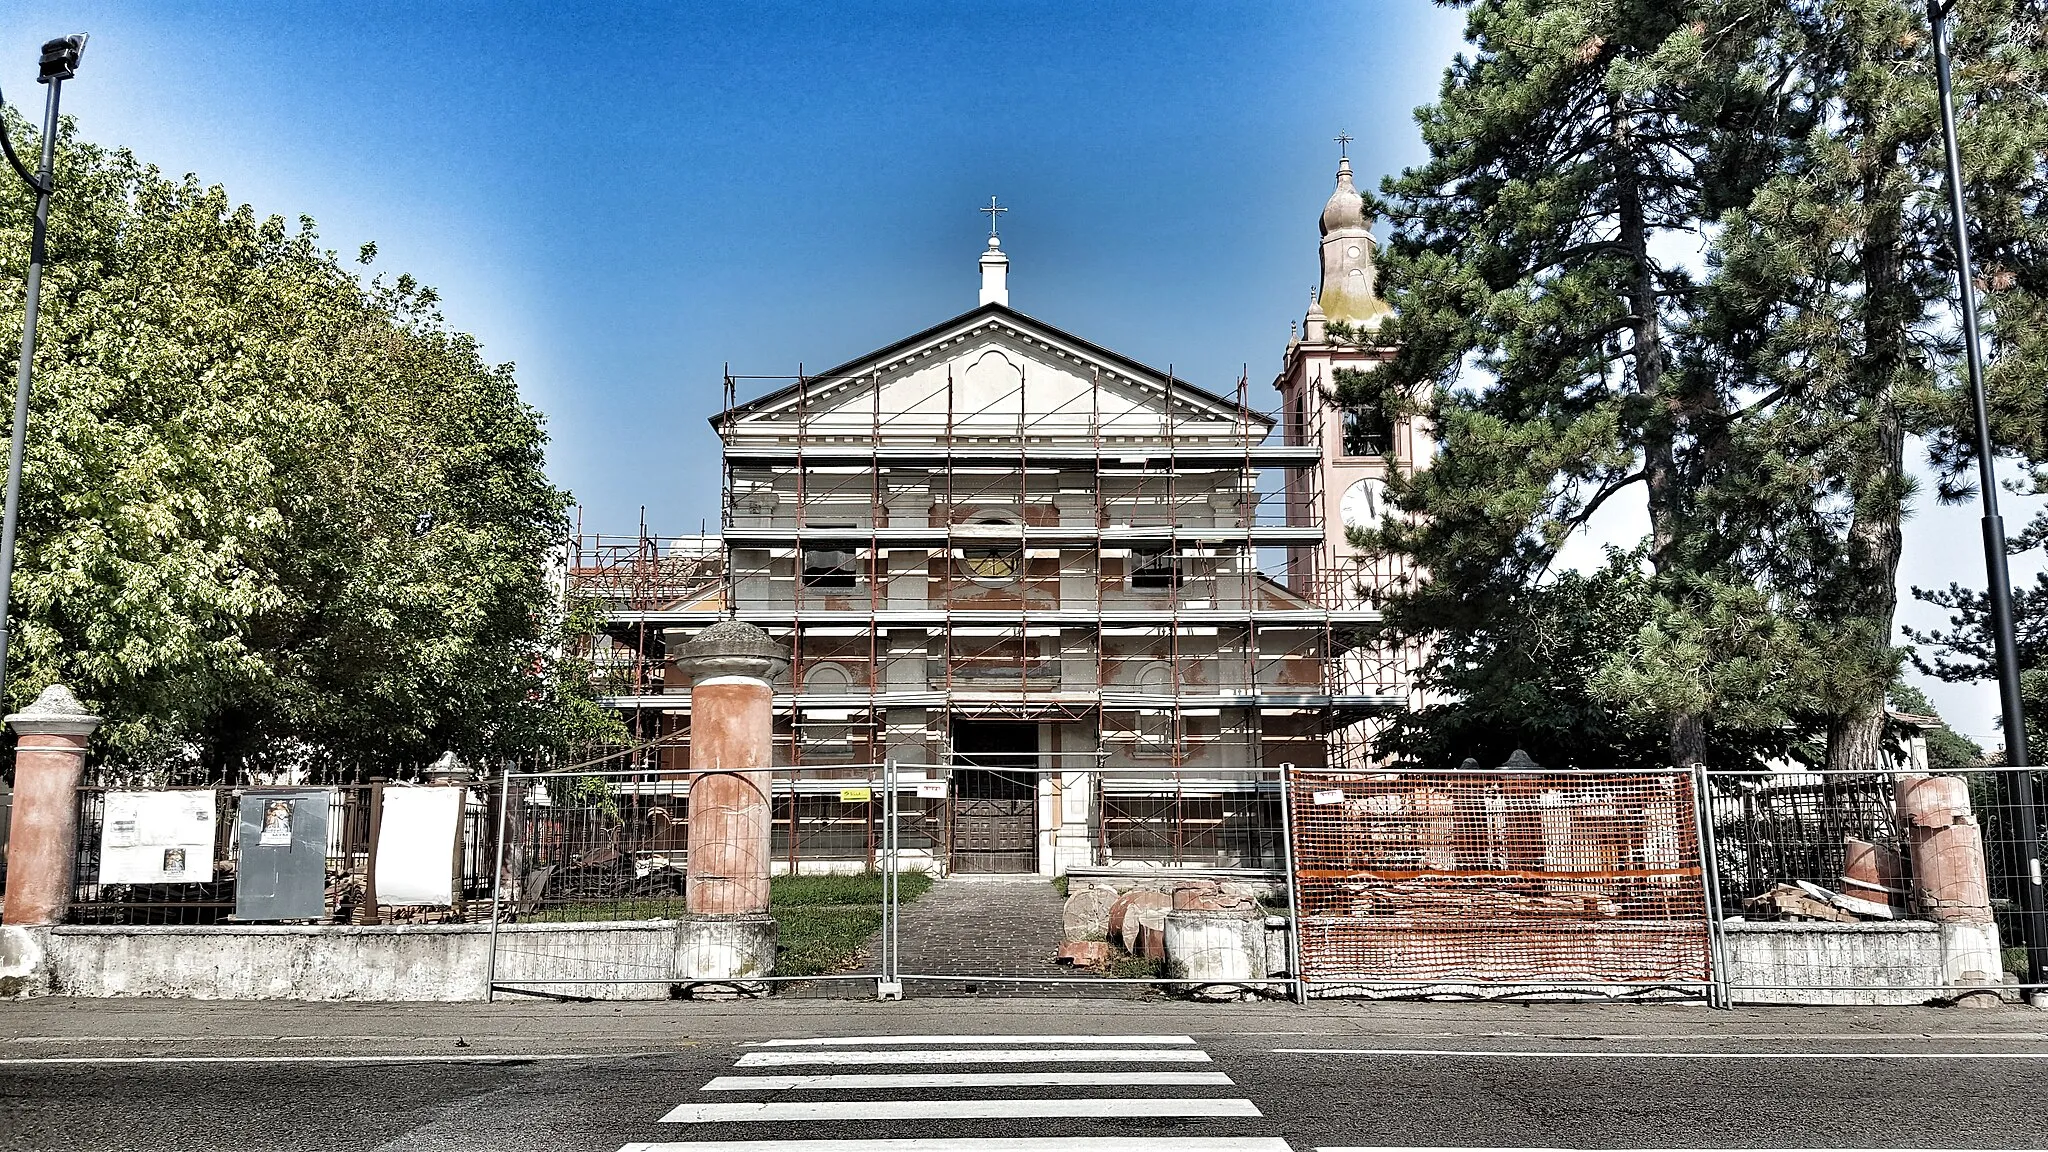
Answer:
POLYGON ((0 1037, 10 1150, 2048 1146, 2023 1009, 25 1002, 0 1037))

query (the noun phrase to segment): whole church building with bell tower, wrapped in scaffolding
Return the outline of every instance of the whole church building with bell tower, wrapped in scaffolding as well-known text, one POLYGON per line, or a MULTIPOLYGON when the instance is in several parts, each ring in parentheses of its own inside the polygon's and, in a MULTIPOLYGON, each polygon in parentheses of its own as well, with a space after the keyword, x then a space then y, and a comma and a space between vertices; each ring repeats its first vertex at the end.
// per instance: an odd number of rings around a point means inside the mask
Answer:
POLYGON ((666 652, 735 615, 793 652, 791 791, 907 765, 950 871, 1276 865, 1272 771, 1362 763, 1362 726, 1407 705, 1401 660, 1356 640, 1389 574, 1343 525, 1427 441, 1327 400, 1384 357, 1348 160, 1321 230, 1278 414, 1014 310, 993 230, 975 310, 754 398, 729 379, 719 539, 643 541, 657 584, 690 574, 651 601, 602 582, 645 767, 688 769, 666 652))

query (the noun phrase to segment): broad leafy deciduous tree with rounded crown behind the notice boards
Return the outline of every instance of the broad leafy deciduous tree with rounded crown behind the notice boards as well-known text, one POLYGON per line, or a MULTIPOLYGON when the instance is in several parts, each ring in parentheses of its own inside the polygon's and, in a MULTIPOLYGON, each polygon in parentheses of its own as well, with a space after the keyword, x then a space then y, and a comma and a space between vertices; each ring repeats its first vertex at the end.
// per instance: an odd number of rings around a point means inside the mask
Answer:
MULTIPOLYGON (((567 496, 512 367, 309 219, 70 127, 57 178, 8 703, 63 681, 109 765, 158 773, 399 773, 604 730, 561 674, 567 496)), ((0 266, 31 211, 0 195, 0 266)))

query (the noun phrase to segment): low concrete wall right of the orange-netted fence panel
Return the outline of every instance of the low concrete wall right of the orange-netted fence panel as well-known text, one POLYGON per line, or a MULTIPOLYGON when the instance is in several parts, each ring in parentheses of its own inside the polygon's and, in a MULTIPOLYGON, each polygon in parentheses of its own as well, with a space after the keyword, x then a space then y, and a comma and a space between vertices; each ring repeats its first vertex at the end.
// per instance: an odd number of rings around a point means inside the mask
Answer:
POLYGON ((1925 1004, 2003 980, 1993 924, 1737 920, 1724 931, 1739 1004, 1925 1004))

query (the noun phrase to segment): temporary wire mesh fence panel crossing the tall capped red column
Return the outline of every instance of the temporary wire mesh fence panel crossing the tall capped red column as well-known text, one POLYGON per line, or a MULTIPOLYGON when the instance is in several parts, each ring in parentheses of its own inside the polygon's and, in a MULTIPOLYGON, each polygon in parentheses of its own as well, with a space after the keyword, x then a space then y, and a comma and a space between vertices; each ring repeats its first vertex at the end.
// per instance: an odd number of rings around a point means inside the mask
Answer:
MULTIPOLYGON (((803 994, 860 994, 891 968, 883 857, 899 842, 926 859, 915 812, 887 797, 885 765, 750 773, 766 785, 770 914, 786 931, 776 972, 698 980, 678 949, 688 916, 690 773, 657 769, 508 773, 498 781, 487 996, 664 998, 801 986, 803 994), (909 836, 905 836, 909 832, 909 836), (809 892, 803 879, 856 879, 856 892, 809 892), (852 937, 854 953, 803 941, 852 937)), ((702 845, 698 845, 702 849, 702 845)), ((893 888, 893 881, 889 881, 893 888)))

